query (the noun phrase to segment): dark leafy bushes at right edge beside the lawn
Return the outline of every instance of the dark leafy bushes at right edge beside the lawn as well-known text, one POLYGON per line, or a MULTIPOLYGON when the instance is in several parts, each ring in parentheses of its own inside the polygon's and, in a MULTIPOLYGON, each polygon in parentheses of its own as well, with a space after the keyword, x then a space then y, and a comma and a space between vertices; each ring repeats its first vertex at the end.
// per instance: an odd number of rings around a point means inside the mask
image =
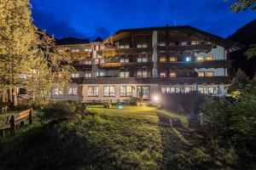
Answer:
POLYGON ((256 159, 255 80, 256 77, 250 80, 238 71, 230 87, 230 98, 207 99, 202 106, 204 125, 212 138, 217 143, 230 142, 239 153, 251 158, 248 160, 256 159))

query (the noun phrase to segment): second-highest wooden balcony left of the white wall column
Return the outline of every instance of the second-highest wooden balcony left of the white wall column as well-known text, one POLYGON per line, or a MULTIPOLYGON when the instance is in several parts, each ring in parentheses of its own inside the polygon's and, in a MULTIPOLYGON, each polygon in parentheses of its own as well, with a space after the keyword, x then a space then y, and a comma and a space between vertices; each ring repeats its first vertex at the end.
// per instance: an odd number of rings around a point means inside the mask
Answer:
POLYGON ((146 62, 146 63, 138 63, 138 62, 129 62, 129 63, 102 63, 99 65, 100 68, 108 68, 108 69, 116 69, 121 67, 143 67, 143 66, 149 66, 153 67, 153 62, 146 62))

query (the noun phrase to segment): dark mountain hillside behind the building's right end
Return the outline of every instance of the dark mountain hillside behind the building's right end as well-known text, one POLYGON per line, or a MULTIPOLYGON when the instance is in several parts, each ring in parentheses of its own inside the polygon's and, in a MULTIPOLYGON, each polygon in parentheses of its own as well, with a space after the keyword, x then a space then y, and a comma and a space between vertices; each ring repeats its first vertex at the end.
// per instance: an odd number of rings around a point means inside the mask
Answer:
POLYGON ((251 44, 256 43, 256 20, 241 27, 233 35, 228 37, 228 39, 233 42, 239 42, 245 46, 243 49, 230 54, 230 59, 234 60, 232 74, 234 75, 237 69, 241 68, 241 70, 247 72, 248 76, 253 77, 256 71, 256 57, 247 59, 244 53, 250 48, 251 44))

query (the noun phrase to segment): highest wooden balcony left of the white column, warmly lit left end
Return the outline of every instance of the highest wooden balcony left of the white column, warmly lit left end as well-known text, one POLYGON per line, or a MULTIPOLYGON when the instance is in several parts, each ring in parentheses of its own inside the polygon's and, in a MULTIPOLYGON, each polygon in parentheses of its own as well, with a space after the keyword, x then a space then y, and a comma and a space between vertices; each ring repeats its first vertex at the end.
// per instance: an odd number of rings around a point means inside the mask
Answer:
POLYGON ((102 56, 112 57, 131 54, 152 54, 153 48, 105 48, 102 50, 102 56))

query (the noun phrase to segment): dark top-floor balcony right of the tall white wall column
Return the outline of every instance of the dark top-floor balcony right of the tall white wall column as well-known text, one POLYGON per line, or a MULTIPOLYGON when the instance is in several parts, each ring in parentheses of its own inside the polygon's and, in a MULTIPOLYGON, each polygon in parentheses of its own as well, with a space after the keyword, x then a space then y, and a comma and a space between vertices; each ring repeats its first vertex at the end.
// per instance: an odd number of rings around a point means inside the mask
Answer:
POLYGON ((197 45, 178 45, 178 46, 158 46, 159 51, 194 51, 194 52, 210 52, 212 44, 197 45))

